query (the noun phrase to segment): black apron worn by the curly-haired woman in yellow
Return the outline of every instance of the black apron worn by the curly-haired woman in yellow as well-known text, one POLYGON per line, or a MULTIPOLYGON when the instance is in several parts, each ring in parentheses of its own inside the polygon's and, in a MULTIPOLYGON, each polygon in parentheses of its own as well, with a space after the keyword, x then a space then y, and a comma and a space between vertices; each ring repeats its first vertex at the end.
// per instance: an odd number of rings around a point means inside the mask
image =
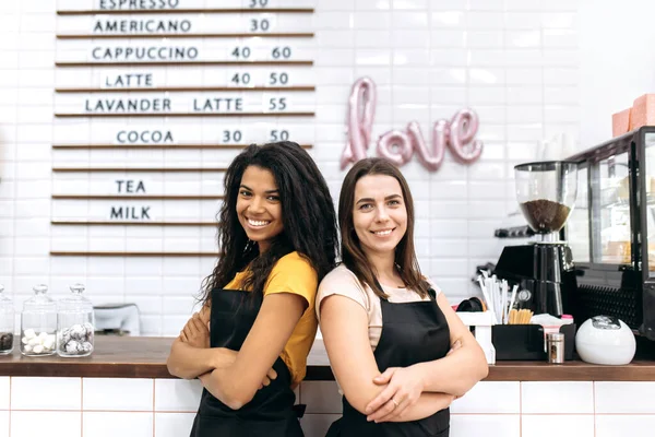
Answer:
MULTIPOLYGON (((210 344, 239 351, 262 306, 261 293, 233 290, 212 291, 210 344)), ((277 357, 273 364, 277 378, 254 394, 240 410, 231 410, 206 389, 191 437, 302 437, 291 390, 291 375, 277 357)))

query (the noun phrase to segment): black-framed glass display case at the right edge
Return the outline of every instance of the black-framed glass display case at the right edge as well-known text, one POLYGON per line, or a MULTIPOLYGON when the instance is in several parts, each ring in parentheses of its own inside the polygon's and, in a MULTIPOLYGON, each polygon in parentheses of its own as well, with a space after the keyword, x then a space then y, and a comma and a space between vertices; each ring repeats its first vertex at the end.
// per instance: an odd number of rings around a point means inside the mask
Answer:
POLYGON ((655 127, 568 161, 579 177, 563 229, 577 275, 573 316, 618 317, 655 340, 655 127))

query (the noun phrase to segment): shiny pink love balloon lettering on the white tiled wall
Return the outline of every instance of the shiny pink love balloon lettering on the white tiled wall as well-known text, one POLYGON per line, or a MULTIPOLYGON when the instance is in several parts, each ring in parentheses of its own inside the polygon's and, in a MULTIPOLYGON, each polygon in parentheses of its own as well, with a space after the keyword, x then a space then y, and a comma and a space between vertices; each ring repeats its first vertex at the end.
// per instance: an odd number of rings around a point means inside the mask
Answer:
MULTIPOLYGON (((341 168, 367 156, 376 116, 376 83, 370 78, 358 79, 348 98, 348 139, 341 157, 341 168)), ((407 164, 414 152, 427 169, 441 167, 445 149, 463 164, 476 162, 483 153, 483 143, 475 139, 478 117, 473 109, 460 109, 452 119, 439 120, 432 126, 432 143, 424 139, 418 122, 410 121, 405 130, 390 130, 378 139, 377 152, 396 165, 407 164)))

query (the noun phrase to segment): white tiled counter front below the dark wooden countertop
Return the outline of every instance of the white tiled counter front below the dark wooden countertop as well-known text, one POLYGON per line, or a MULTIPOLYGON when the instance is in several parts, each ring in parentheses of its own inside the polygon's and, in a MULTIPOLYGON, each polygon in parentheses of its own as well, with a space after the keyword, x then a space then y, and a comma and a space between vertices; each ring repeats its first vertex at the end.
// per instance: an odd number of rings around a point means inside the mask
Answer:
MULTIPOLYGON (((651 436, 654 383, 483 381, 452 404, 451 436, 651 436)), ((305 435, 323 437, 342 411, 335 382, 296 391, 305 435)), ((200 392, 198 380, 0 377, 0 437, 32 437, 35 423, 53 437, 187 436, 200 392)))

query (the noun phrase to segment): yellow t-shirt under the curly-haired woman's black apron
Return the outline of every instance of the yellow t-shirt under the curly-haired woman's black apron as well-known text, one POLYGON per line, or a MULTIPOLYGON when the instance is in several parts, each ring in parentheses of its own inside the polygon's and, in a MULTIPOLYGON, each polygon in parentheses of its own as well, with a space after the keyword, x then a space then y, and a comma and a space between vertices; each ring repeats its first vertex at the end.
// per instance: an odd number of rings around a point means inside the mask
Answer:
MULTIPOLYGON (((225 288, 241 290, 247 271, 239 272, 225 288)), ((264 297, 275 293, 293 293, 305 297, 308 307, 300 317, 289 341, 279 355, 291 374, 293 385, 296 386, 305 378, 307 355, 317 335, 318 320, 314 309, 319 276, 309 261, 298 252, 282 257, 273 267, 264 285, 264 297)))

